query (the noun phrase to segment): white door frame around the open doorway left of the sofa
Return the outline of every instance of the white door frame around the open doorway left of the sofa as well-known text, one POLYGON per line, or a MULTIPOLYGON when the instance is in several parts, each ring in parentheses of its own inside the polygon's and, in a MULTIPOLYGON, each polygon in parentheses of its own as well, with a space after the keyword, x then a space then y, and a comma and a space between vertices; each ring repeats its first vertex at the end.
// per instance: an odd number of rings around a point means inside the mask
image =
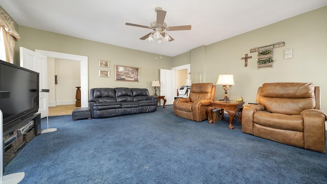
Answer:
POLYGON ((88 107, 88 57, 74 54, 65 54, 52 51, 35 50, 46 57, 74 60, 80 62, 81 70, 81 106, 88 107))

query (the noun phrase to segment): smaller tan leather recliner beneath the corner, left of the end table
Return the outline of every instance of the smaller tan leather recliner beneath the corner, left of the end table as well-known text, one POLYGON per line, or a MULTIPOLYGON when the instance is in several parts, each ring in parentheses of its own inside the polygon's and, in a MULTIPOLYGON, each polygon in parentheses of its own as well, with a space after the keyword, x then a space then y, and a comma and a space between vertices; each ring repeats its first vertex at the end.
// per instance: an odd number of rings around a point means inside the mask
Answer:
POLYGON ((178 98, 174 101, 174 114, 197 122, 207 120, 207 107, 211 106, 215 95, 216 86, 213 83, 192 84, 189 98, 178 98))

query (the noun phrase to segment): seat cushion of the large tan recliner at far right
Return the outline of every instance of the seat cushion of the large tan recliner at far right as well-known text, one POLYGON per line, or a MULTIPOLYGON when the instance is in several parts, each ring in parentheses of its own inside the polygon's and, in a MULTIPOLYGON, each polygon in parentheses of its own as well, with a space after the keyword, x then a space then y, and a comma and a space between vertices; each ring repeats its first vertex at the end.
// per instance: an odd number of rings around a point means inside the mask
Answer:
POLYGON ((304 123, 300 115, 256 111, 253 115, 253 123, 282 130, 304 131, 304 123))

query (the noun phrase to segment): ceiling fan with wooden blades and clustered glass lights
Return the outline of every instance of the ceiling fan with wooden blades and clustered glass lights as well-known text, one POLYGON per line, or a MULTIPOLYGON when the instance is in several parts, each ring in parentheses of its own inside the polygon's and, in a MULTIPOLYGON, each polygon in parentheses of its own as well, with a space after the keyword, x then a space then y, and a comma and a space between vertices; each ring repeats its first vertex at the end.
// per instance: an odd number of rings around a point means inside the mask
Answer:
POLYGON ((127 26, 135 26, 135 27, 141 27, 141 28, 147 28, 147 29, 152 29, 153 32, 150 32, 149 34, 139 38, 142 40, 145 40, 148 38, 149 41, 153 41, 157 39, 157 42, 159 44, 162 43, 162 38, 163 37, 166 41, 173 41, 174 38, 172 38, 167 32, 165 31, 182 31, 182 30, 191 30, 191 25, 186 25, 186 26, 172 26, 172 27, 167 27, 167 24, 165 21, 166 17, 166 11, 162 10, 161 7, 156 7, 155 11, 157 12, 157 19, 156 21, 151 22, 150 26, 142 26, 142 25, 137 25, 137 24, 131 24, 126 22, 125 25, 127 26))

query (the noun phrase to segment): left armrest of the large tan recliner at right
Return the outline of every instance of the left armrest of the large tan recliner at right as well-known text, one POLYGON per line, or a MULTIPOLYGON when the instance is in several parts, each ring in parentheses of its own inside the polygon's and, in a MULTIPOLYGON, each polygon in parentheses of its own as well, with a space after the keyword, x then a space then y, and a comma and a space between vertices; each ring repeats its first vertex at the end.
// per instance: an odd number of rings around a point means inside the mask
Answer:
POLYGON ((261 110, 264 110, 264 106, 260 104, 245 105, 242 110, 242 132, 253 135, 253 115, 261 110))

